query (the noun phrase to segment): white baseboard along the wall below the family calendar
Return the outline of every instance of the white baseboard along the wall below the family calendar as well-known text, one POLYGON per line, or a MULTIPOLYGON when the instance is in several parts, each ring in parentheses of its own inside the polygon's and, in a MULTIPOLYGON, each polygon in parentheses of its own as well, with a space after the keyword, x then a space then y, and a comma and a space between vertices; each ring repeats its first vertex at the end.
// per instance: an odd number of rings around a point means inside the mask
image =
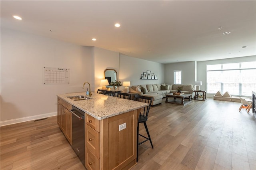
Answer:
POLYGON ((1 121, 0 122, 0 127, 6 126, 6 125, 12 125, 12 124, 15 124, 15 123, 33 121, 33 120, 42 119, 42 118, 46 118, 46 117, 52 117, 52 116, 56 116, 56 115, 57 115, 57 112, 52 112, 52 113, 45 113, 45 114, 41 114, 41 115, 28 116, 28 117, 22 117, 22 118, 18 118, 18 119, 11 119, 11 120, 7 120, 7 121, 1 121))

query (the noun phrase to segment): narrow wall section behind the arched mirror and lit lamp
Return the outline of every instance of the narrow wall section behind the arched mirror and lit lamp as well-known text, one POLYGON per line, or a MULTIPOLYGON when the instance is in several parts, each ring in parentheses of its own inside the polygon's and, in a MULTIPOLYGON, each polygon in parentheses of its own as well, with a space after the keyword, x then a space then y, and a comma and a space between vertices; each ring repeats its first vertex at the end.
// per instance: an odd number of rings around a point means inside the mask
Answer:
POLYGON ((115 51, 109 51, 94 47, 94 91, 101 89, 100 80, 104 79, 105 69, 115 69, 117 71, 117 77, 119 77, 119 53, 115 51))

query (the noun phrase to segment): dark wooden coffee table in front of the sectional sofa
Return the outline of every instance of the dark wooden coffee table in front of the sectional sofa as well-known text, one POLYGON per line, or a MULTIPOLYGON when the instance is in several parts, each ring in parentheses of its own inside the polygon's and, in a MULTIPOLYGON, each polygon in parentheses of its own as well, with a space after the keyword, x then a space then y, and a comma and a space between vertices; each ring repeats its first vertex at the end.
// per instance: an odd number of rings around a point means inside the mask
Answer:
POLYGON ((188 103, 191 102, 191 94, 184 94, 184 95, 174 95, 173 93, 166 94, 165 102, 176 104, 176 105, 187 105, 188 103), (173 97, 174 99, 169 99, 170 97, 173 97), (184 101, 184 98, 187 98, 188 100, 184 101))

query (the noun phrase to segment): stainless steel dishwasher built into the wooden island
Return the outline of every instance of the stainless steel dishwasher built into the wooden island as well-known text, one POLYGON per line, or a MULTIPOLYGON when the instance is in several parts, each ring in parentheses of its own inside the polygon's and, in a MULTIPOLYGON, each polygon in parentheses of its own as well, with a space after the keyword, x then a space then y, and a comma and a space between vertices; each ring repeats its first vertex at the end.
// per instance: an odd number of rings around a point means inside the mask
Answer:
POLYGON ((72 148, 85 167, 84 111, 72 105, 72 148))

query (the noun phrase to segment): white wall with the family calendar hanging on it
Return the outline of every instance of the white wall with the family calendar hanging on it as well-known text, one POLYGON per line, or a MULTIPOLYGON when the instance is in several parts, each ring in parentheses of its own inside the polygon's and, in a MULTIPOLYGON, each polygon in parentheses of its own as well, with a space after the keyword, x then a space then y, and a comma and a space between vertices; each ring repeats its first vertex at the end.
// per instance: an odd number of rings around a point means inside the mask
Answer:
POLYGON ((92 50, 1 28, 1 125, 56 115, 57 94, 92 81, 92 50), (70 84, 44 85, 43 67, 69 68, 70 84))

